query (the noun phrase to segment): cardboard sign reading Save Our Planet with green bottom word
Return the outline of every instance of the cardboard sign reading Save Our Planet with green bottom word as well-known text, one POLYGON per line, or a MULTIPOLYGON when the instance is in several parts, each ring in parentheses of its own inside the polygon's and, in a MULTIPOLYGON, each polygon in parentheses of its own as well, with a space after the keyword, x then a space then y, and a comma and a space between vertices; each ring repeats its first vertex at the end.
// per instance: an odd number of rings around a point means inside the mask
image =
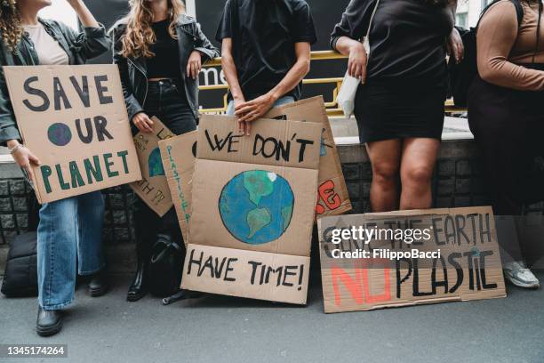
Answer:
POLYGON ((4 67, 40 203, 141 179, 115 65, 4 67))

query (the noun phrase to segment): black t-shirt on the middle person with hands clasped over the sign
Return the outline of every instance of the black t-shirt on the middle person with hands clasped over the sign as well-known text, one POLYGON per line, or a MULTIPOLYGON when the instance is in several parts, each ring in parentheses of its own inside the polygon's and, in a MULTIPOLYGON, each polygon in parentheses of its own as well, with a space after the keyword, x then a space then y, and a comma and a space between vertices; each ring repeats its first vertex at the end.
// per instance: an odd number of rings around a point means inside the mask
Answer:
MULTIPOLYGON (((317 41, 303 0, 228 0, 216 39, 232 38, 238 81, 246 101, 268 93, 296 62, 295 43, 317 41)), ((300 85, 286 96, 300 99, 300 85)), ((230 95, 229 95, 230 97, 230 95)))

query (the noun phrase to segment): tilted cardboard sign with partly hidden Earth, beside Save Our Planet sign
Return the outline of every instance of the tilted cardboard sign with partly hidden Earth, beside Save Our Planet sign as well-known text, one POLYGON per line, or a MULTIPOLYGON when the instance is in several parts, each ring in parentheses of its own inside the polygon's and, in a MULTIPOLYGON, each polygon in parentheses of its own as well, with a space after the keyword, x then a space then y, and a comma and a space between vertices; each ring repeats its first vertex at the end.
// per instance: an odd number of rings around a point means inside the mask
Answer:
POLYGON ((134 181, 130 186, 149 208, 162 217, 172 208, 172 196, 164 173, 158 142, 175 135, 158 118, 151 117, 151 119, 153 133, 140 132, 134 136, 142 180, 134 181))

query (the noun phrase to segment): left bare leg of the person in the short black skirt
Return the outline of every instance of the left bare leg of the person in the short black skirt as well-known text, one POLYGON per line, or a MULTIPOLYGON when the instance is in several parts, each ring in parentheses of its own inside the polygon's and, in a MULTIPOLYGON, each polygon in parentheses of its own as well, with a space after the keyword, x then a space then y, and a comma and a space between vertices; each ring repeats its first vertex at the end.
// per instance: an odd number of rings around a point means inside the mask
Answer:
POLYGON ((389 212, 397 209, 400 147, 400 140, 375 141, 366 144, 372 163, 370 191, 372 212, 389 212))

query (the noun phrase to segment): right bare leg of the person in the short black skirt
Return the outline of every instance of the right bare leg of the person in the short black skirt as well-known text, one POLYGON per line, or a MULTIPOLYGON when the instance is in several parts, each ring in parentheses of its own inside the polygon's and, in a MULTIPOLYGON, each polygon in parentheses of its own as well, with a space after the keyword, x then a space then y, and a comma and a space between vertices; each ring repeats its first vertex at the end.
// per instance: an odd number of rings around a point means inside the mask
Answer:
POLYGON ((401 158, 400 209, 427 209, 432 205, 431 179, 440 141, 404 139, 401 158))

